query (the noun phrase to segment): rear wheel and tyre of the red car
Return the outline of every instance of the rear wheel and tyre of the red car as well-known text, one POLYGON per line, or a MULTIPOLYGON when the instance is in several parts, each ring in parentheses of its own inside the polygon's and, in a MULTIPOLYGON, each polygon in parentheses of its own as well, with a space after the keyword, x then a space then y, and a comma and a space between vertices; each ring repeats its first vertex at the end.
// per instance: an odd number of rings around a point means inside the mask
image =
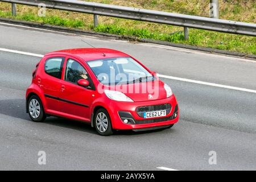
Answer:
POLYGON ((42 101, 38 96, 31 96, 27 104, 28 115, 34 122, 43 122, 46 119, 46 113, 44 113, 44 108, 42 101))

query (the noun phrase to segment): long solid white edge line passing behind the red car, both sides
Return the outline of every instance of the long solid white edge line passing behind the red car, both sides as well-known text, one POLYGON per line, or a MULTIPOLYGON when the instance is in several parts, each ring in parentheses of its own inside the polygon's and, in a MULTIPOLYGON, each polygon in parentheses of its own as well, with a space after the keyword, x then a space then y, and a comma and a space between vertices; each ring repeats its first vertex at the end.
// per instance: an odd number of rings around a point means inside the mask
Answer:
MULTIPOLYGON (((22 54, 22 55, 35 56, 35 57, 43 57, 44 56, 44 55, 39 55, 39 54, 36 54, 36 53, 16 51, 16 50, 6 49, 6 48, 0 48, 0 51, 19 53, 19 54, 22 54)), ((195 84, 216 86, 216 87, 225 88, 225 89, 232 89, 232 90, 239 90, 239 91, 243 91, 243 92, 256 93, 256 90, 245 89, 245 88, 240 88, 240 87, 236 87, 236 86, 214 84, 214 83, 210 83, 210 82, 191 80, 191 79, 187 79, 187 78, 180 78, 180 77, 167 76, 167 75, 161 75, 161 74, 157 74, 157 76, 162 77, 162 78, 168 78, 168 79, 171 79, 171 80, 179 80, 179 81, 185 81, 185 82, 192 82, 192 83, 195 83, 195 84)))

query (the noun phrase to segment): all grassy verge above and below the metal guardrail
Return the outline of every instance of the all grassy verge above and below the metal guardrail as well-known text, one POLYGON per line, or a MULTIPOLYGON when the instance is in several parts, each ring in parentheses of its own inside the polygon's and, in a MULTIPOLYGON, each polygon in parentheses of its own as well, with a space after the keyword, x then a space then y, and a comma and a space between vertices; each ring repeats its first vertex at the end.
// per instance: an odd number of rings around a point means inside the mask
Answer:
MULTIPOLYGON (((208 16, 209 12, 209 1, 203 0, 94 0, 94 2, 200 16, 208 16)), ((40 17, 37 7, 23 5, 17 6, 17 15, 13 17, 10 3, 0 3, 0 17, 256 54, 256 38, 253 36, 189 28, 189 40, 185 41, 183 27, 99 16, 100 24, 94 28, 93 15, 47 9, 46 16, 40 17)), ((221 19, 256 23, 255 17, 256 3, 254 0, 220 0, 221 19)))

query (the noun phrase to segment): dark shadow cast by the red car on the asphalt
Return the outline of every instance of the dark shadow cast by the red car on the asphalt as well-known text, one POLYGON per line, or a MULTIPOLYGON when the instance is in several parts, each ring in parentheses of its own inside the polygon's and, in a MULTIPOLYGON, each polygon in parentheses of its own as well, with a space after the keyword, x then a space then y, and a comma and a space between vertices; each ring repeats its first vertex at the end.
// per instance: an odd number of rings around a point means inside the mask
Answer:
MULTIPOLYGON (((26 113, 26 101, 24 99, 10 99, 0 100, 0 114, 9 115, 10 117, 24 119, 32 122, 28 114, 26 113)), ((76 121, 73 119, 66 119, 60 117, 47 117, 43 122, 47 125, 54 125, 59 127, 65 127, 68 129, 74 129, 77 131, 97 134, 97 131, 90 126, 90 123, 76 121)), ((118 130, 114 132, 114 135, 142 135, 157 133, 168 129, 157 129, 150 131, 133 131, 133 130, 118 130)))

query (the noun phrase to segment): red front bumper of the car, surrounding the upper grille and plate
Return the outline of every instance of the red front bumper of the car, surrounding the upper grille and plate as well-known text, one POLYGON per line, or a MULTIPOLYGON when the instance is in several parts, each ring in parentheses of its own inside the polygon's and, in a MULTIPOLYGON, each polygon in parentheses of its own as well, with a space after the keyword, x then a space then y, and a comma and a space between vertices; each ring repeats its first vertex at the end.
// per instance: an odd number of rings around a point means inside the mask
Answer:
POLYGON ((149 127, 167 126, 176 123, 179 120, 179 107, 174 95, 171 97, 154 100, 154 101, 144 101, 144 102, 110 102, 109 114, 112 120, 112 127, 116 130, 134 130, 134 129, 144 129, 149 127), (170 104, 171 110, 164 117, 156 118, 143 118, 141 117, 136 109, 141 106, 152 106, 152 105, 164 105, 170 104), (130 114, 129 114, 130 113, 130 114), (122 119, 121 119, 122 117, 122 119), (129 119, 129 123, 124 123, 124 118, 129 119), (132 122, 134 120, 134 122, 132 122))

